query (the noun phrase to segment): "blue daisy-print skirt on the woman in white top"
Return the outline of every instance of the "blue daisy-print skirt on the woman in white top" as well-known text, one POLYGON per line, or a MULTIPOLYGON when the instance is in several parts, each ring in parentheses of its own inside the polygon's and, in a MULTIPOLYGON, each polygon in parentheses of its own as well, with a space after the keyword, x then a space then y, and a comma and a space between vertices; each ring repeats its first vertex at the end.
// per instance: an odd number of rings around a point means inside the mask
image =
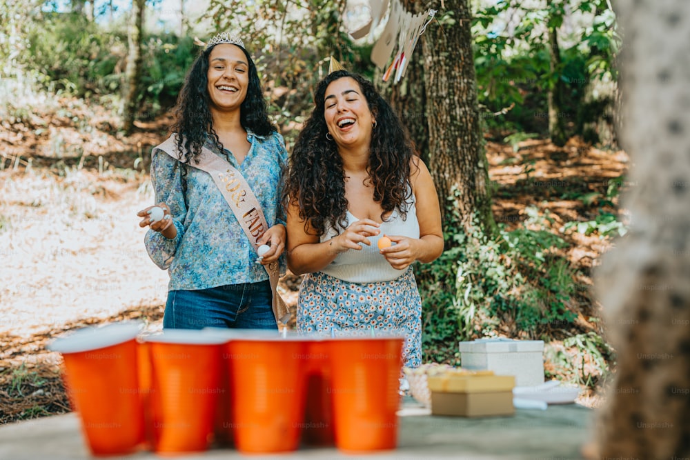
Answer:
POLYGON ((306 274, 299 288, 297 331, 338 335, 352 332, 404 334, 404 366, 422 364, 422 299, 411 268, 393 281, 350 283, 331 275, 306 274))

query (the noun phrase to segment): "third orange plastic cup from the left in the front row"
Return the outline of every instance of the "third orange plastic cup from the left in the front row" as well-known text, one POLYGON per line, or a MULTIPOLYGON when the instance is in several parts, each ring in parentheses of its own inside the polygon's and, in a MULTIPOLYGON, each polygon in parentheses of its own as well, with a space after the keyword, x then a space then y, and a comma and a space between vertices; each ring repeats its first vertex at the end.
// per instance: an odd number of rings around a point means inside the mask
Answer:
POLYGON ((306 341, 238 337, 226 343, 226 354, 237 450, 297 450, 304 424, 306 341))

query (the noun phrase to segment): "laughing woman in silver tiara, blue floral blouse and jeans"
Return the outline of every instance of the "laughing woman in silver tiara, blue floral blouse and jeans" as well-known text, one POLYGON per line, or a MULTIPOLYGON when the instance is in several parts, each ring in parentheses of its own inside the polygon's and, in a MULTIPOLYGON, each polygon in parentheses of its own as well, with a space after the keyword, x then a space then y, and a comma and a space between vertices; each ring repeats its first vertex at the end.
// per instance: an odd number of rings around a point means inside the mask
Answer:
POLYGON ((154 219, 153 206, 137 214, 139 226, 149 228, 148 254, 170 274, 164 328, 277 329, 261 264, 280 260, 284 268, 280 189, 287 152, 242 40, 222 33, 209 41, 187 75, 175 117, 175 143, 154 148, 151 160, 164 218, 154 219), (195 167, 202 149, 230 163, 257 197, 268 223, 258 241, 250 241, 211 174, 195 167), (270 245, 259 263, 255 244, 270 245))

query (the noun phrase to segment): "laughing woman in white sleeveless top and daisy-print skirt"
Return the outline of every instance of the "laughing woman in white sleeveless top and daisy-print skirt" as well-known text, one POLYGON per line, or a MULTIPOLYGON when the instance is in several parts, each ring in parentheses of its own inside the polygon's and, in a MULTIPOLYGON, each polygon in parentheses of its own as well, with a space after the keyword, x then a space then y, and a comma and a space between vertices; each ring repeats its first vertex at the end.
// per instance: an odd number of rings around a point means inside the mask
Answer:
POLYGON ((443 251, 431 174, 366 79, 337 70, 314 99, 284 190, 288 267, 306 273, 297 329, 402 331, 406 366, 420 366, 422 302, 411 264, 443 251))

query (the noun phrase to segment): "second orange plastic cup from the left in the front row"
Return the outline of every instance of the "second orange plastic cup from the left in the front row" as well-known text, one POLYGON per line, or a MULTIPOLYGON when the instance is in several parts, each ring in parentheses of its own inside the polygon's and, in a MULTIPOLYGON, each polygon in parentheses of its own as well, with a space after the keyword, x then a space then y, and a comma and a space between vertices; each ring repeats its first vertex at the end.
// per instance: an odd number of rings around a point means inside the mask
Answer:
POLYGON ((213 439, 226 339, 199 330, 146 337, 151 363, 150 417, 158 454, 201 452, 213 439))

